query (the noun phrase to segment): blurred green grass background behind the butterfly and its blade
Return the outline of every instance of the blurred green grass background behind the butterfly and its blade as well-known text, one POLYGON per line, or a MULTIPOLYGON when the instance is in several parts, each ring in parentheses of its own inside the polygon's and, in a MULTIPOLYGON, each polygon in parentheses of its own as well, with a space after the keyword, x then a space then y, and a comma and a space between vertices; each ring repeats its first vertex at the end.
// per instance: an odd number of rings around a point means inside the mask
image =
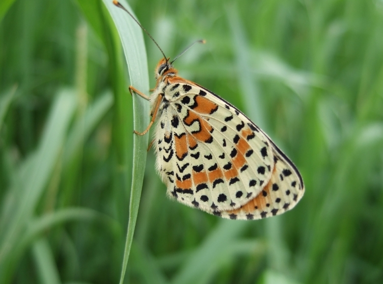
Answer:
MULTIPOLYGON (((169 201, 150 151, 124 283, 383 283, 382 0, 129 4, 167 56, 207 40, 180 75, 265 129, 306 192, 281 216, 221 220, 169 201)), ((109 12, 5 0, 0 17, 0 283, 117 283, 133 102, 109 12)))

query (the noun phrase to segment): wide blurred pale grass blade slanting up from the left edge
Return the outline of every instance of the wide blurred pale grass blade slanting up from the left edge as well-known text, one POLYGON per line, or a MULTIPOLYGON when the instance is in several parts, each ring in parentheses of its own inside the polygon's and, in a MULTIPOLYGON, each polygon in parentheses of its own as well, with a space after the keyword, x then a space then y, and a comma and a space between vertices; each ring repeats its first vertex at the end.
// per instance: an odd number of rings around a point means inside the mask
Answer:
MULTIPOLYGON (((9 211, 3 211, 4 216, 1 216, 1 219, 4 217, 6 220, 1 222, 0 266, 12 262, 12 252, 17 244, 18 236, 25 230, 27 221, 31 218, 49 181, 75 108, 74 92, 61 91, 52 107, 37 151, 20 166, 18 181, 8 190, 8 194, 14 196, 14 207, 12 214, 9 214, 9 211)), ((0 270, 0 282, 3 280, 1 283, 7 283, 11 273, 10 270, 0 270)))

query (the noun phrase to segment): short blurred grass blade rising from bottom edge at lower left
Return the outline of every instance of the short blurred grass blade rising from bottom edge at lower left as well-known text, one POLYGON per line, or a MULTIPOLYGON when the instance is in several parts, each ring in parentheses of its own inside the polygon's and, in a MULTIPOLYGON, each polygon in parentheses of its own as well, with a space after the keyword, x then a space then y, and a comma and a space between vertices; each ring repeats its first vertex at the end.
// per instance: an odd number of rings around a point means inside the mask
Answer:
POLYGON ((55 258, 48 241, 41 238, 33 244, 33 257, 37 266, 37 273, 41 284, 60 284, 55 258))

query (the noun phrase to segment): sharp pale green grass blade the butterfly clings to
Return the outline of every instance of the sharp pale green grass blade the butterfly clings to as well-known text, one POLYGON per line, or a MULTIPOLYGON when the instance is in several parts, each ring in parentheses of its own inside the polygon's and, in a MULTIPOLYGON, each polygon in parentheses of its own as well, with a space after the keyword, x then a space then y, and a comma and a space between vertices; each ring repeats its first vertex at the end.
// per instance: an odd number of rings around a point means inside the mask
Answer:
MULTIPOLYGON (((128 63, 128 71, 131 84, 142 92, 149 90, 149 77, 147 71, 147 59, 145 44, 141 28, 122 9, 116 7, 111 0, 104 0, 109 13, 120 35, 125 57, 128 63)), ((126 9, 132 11, 125 0, 121 3, 126 9)), ((131 12, 133 14, 133 12, 131 12)), ((133 96, 134 129, 143 131, 149 125, 149 104, 138 96, 133 96)), ((137 221, 138 206, 141 196, 143 175, 145 172, 146 149, 148 135, 134 135, 133 142, 133 175, 132 189, 129 205, 129 224, 126 236, 125 252, 122 263, 120 284, 124 281, 129 253, 132 246, 133 234, 137 221)))

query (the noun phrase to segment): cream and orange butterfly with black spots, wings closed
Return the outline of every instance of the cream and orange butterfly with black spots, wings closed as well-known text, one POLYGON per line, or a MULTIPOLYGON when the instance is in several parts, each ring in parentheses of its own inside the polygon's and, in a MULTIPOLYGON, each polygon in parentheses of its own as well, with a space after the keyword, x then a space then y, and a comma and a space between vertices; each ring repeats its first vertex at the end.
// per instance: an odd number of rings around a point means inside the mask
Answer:
POLYGON ((135 133, 155 124, 156 169, 167 195, 227 219, 261 219, 295 207, 304 185, 293 162, 234 105, 179 77, 172 65, 178 56, 170 62, 150 38, 164 55, 156 86, 150 97, 129 90, 150 101, 152 120, 135 133))

